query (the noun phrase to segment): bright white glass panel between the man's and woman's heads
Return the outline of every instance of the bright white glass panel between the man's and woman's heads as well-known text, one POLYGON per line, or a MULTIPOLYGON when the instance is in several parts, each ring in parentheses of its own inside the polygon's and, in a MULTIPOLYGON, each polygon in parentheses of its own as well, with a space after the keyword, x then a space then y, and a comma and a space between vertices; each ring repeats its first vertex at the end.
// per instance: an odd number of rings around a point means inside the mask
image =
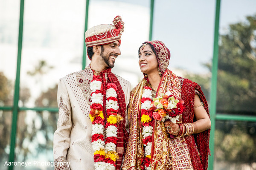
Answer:
MULTIPOLYGON (((121 55, 116 59, 112 71, 130 81, 133 88, 143 77, 138 64, 138 49, 148 40, 150 0, 90 0, 88 28, 105 23, 113 24, 116 15, 122 17, 125 29, 120 45, 121 55)), ((87 65, 89 63, 87 59, 87 65)))

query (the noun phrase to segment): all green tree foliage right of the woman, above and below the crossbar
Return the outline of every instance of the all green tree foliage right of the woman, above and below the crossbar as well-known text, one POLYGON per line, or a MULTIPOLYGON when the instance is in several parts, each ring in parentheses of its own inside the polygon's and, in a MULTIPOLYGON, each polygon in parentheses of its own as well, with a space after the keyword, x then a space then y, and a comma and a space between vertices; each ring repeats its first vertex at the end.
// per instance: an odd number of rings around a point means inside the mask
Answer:
MULTIPOLYGON (((256 15, 229 26, 220 35, 218 53, 218 114, 256 115, 256 15)), ((211 71, 211 64, 205 66, 211 71)), ((210 91, 210 77, 189 75, 203 91, 210 91)), ((209 99, 206 93, 207 99, 209 99)), ((236 164, 256 162, 256 122, 216 121, 215 159, 236 164)), ((226 167, 230 169, 230 167, 226 167)))

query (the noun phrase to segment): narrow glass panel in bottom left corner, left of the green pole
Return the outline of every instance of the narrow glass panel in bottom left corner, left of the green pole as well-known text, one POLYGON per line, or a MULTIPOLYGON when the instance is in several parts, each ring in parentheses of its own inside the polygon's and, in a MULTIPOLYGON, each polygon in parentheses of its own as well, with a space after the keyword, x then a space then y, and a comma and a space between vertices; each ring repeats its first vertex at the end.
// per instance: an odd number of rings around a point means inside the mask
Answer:
POLYGON ((4 166, 9 161, 10 154, 10 138, 12 128, 12 113, 10 111, 0 110, 0 169, 7 170, 8 166, 4 166))

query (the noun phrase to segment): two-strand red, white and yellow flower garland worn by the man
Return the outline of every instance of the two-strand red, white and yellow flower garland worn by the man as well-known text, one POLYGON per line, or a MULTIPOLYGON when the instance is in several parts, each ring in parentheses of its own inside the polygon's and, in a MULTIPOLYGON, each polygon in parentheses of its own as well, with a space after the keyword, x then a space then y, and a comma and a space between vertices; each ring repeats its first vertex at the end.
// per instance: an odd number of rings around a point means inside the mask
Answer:
POLYGON ((90 83, 92 121, 92 146, 94 150, 95 170, 115 170, 116 160, 119 159, 116 153, 117 124, 123 120, 118 112, 118 100, 114 83, 108 83, 106 91, 106 124, 103 114, 103 88, 102 80, 98 75, 93 75, 90 83), (104 126, 105 125, 105 126, 104 126), (104 139, 104 132, 106 133, 104 139))

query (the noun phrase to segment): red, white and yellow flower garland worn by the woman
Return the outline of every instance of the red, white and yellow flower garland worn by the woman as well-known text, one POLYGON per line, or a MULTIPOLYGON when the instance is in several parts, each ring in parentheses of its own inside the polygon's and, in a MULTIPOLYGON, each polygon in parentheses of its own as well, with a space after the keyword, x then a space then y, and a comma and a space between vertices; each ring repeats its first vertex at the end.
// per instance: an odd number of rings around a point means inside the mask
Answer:
POLYGON ((142 165, 145 170, 151 170, 151 145, 152 145, 152 133, 153 133, 153 119, 152 111, 149 110, 152 102, 152 89, 148 86, 144 86, 143 94, 141 98, 141 122, 142 122, 142 135, 144 144, 144 155, 142 165))

